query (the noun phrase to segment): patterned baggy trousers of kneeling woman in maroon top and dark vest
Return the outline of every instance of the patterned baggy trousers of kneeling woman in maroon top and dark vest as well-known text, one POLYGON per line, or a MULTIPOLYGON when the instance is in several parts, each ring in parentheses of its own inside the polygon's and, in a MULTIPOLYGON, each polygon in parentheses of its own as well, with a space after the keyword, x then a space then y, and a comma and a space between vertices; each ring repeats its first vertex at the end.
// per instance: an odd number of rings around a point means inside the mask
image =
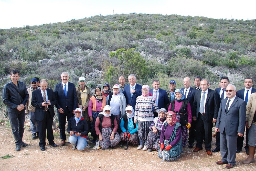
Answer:
POLYGON ((103 140, 99 141, 101 149, 105 150, 105 149, 108 149, 108 147, 114 147, 118 145, 118 143, 121 141, 118 133, 115 134, 115 138, 113 140, 110 140, 111 133, 112 133, 112 128, 110 127, 102 128, 101 134, 103 136, 103 140))

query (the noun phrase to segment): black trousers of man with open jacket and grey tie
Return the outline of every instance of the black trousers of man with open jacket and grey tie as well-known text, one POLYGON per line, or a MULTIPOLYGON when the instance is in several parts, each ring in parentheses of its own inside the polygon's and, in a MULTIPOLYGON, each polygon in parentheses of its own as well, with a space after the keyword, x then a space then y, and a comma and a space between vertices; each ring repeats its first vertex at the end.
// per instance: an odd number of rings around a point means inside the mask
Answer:
POLYGON ((208 123, 205 119, 205 115, 198 113, 196 120, 196 147, 202 148, 203 144, 203 129, 205 130, 205 150, 211 150, 211 138, 212 138, 212 126, 213 123, 208 123))

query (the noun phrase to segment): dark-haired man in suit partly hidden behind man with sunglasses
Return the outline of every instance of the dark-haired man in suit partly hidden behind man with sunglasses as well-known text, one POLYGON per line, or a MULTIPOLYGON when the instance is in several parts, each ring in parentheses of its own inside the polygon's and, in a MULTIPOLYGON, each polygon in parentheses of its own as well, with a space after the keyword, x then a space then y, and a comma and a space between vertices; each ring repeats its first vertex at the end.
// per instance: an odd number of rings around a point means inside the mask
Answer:
MULTIPOLYGON (((218 93, 218 97, 219 97, 219 102, 221 102, 222 99, 227 98, 226 95, 226 88, 229 84, 229 79, 228 77, 221 77, 220 78, 220 86, 219 88, 216 88, 215 91, 218 93)), ((216 149, 212 150, 212 152, 216 153, 220 151, 220 133, 216 132, 216 149)))

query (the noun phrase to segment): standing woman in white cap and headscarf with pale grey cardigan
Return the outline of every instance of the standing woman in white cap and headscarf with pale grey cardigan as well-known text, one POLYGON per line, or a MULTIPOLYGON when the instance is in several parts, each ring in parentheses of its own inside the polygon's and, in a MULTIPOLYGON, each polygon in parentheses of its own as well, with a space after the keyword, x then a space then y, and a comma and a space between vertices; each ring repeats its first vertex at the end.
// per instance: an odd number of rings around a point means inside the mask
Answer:
POLYGON ((111 106, 112 115, 115 116, 115 119, 118 124, 117 132, 121 132, 120 123, 122 117, 126 114, 126 99, 123 93, 119 92, 119 85, 115 84, 113 86, 113 92, 111 92, 106 98, 107 105, 111 106))

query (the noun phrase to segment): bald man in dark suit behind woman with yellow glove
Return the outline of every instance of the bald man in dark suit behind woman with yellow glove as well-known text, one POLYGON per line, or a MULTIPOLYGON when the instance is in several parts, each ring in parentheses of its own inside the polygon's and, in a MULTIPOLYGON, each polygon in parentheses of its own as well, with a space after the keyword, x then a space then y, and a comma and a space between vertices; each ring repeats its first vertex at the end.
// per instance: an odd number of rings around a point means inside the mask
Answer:
MULTIPOLYGON (((184 88, 182 88, 182 91, 184 92, 184 99, 188 100, 191 108, 193 107, 194 103, 194 96, 196 93, 196 90, 192 88, 191 80, 189 77, 186 77, 183 79, 184 88)), ((194 136, 195 136, 195 124, 196 122, 192 119, 191 127, 189 128, 189 134, 188 134, 188 148, 193 147, 194 143, 194 136)))

